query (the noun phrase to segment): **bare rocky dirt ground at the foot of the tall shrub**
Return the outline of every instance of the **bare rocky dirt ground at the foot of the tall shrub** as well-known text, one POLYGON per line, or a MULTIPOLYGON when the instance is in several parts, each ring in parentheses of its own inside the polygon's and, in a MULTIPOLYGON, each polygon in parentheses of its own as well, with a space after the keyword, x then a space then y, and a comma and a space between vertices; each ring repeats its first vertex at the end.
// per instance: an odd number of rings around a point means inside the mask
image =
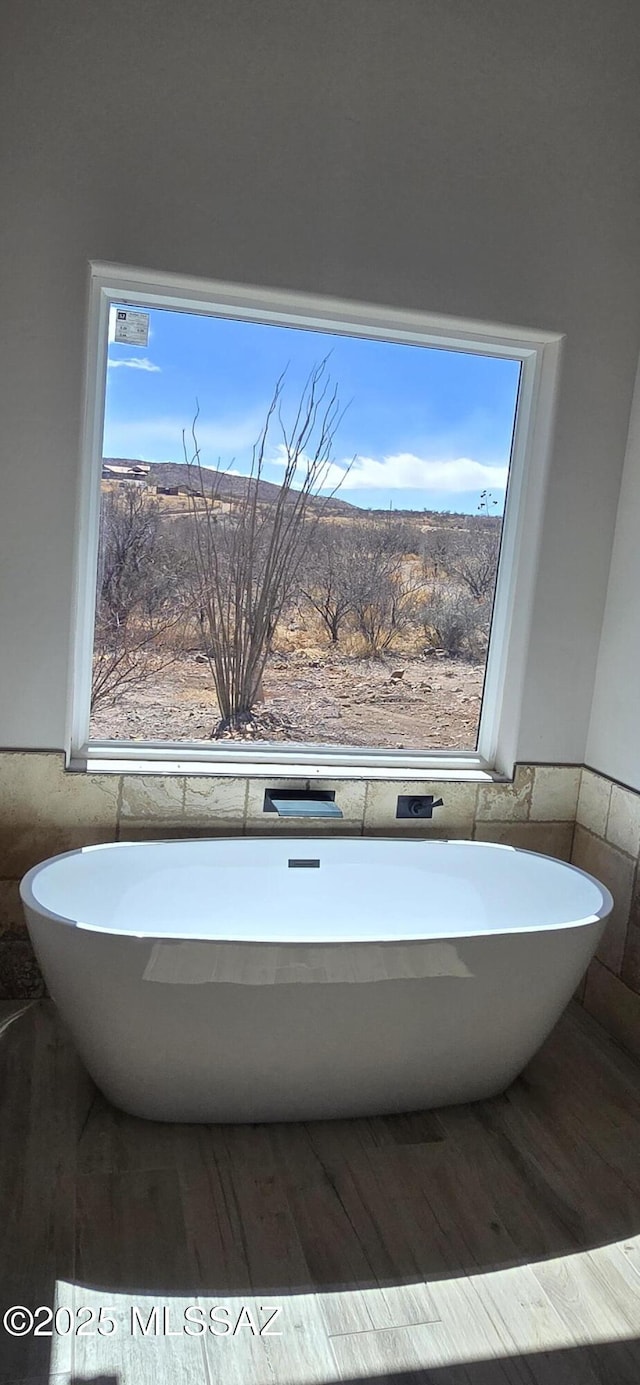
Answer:
MULTIPOLYGON (((263 701, 244 740, 384 749, 474 749, 483 665, 441 654, 359 659, 273 654, 263 701)), ((209 740, 217 720, 211 673, 184 656, 91 719, 93 740, 209 740)))

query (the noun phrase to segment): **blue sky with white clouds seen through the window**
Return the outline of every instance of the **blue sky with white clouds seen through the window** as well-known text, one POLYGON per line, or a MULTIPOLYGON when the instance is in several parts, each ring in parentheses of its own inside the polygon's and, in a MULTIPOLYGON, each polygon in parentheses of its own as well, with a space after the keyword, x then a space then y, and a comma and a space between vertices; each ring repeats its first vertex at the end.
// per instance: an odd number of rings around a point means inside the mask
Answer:
MULTIPOLYGON (((345 414, 327 479, 335 485, 350 463, 342 500, 475 512, 489 489, 503 507, 517 361, 165 309, 150 310, 147 346, 112 335, 111 325, 105 457, 181 461, 198 399, 202 463, 247 474, 277 377, 287 370, 287 418, 330 352, 345 414)), ((274 429, 263 476, 281 475, 274 429)))

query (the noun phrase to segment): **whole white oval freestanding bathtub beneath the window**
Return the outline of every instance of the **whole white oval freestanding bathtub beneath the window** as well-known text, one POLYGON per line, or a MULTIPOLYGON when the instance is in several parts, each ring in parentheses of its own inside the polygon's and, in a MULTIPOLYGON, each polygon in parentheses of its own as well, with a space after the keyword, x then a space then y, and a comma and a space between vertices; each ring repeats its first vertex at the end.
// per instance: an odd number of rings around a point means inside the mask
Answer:
POLYGON ((501 1091, 587 967, 612 899, 479 842, 90 846, 21 885, 98 1087, 157 1120, 306 1120, 501 1091))

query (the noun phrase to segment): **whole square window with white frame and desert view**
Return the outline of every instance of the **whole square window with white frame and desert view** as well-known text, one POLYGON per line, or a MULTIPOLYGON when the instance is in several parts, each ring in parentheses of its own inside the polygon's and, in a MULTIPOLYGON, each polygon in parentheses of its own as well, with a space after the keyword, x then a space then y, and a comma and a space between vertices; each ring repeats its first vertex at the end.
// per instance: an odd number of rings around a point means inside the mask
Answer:
POLYGON ((508 771, 558 346, 94 266, 75 762, 508 771))

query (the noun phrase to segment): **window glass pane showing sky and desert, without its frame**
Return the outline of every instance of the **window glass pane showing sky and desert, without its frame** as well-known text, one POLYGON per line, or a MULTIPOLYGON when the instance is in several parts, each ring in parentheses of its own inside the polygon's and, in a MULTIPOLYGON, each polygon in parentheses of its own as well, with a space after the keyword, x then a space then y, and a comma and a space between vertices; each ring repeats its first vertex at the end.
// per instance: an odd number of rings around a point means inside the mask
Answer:
POLYGON ((91 740, 474 751, 519 371, 112 303, 91 740))

